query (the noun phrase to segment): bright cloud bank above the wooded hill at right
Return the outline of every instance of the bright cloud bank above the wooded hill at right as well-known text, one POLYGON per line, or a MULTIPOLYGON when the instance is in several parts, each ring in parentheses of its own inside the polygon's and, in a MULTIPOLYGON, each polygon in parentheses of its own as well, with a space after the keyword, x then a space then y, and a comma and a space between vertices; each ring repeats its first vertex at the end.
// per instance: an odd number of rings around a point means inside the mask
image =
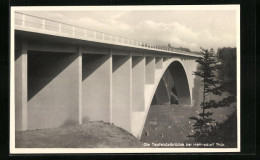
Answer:
POLYGON ((156 23, 151 20, 142 21, 132 30, 136 38, 151 43, 163 43, 175 47, 187 47, 191 50, 204 48, 214 48, 222 46, 235 46, 236 37, 229 33, 214 34, 209 30, 194 31, 191 27, 183 24, 156 23))

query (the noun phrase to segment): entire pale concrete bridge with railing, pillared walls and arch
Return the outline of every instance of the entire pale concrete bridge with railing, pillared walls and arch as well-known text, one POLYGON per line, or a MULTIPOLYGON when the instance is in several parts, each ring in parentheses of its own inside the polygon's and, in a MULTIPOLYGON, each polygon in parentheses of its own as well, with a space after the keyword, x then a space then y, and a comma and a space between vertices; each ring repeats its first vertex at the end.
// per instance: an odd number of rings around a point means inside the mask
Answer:
POLYGON ((193 104, 198 57, 16 12, 15 129, 102 120, 140 138, 154 95, 193 104))

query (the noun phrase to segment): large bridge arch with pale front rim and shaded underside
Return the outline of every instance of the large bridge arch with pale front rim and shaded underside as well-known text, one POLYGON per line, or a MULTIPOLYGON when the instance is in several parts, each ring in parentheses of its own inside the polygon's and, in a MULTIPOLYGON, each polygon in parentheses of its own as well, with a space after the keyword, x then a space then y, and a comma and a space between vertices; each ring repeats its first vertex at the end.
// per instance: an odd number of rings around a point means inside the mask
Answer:
POLYGON ((179 103, 184 105, 191 105, 192 99, 189 87, 190 85, 188 81, 189 75, 187 75, 186 73, 185 64, 183 61, 177 58, 168 59, 167 61, 163 62, 163 68, 160 70, 160 72, 157 72, 157 74, 155 75, 155 83, 153 85, 152 92, 150 92, 150 95, 148 97, 145 97, 147 103, 145 106, 146 109, 144 111, 144 115, 142 116, 142 123, 140 123, 140 130, 138 133, 133 133, 139 139, 141 138, 155 92, 158 86, 160 85, 161 79, 163 79, 163 76, 167 72, 167 70, 170 72, 174 80, 176 92, 179 98, 179 103))

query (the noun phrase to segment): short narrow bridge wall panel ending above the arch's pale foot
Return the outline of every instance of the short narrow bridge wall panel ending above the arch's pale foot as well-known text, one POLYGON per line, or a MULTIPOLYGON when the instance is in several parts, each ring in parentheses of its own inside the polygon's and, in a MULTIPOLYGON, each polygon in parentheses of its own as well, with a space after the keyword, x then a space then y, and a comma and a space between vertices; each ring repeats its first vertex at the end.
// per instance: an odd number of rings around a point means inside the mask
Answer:
POLYGON ((133 56, 132 58, 132 110, 144 111, 145 100, 145 58, 133 56))

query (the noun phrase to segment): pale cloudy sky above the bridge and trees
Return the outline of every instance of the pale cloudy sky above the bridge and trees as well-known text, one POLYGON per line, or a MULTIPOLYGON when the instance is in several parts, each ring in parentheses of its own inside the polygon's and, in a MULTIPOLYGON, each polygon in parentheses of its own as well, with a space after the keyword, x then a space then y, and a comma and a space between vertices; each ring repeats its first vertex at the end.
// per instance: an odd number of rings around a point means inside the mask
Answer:
POLYGON ((236 47, 234 10, 23 11, 105 33, 192 51, 236 47))

